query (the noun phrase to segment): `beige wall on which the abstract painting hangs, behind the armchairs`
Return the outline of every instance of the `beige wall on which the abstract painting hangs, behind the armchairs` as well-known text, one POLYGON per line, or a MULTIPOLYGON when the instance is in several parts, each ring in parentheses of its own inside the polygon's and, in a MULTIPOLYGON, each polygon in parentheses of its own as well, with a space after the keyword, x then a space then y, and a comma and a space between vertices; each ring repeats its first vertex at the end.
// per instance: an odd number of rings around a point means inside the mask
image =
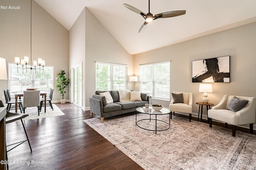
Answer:
MULTIPOLYGON (((170 91, 192 92, 193 112, 202 101, 200 83, 192 83, 192 61, 230 55, 230 83, 212 83, 209 102, 218 104, 225 94, 256 97, 256 22, 192 39, 175 45, 140 53, 134 57, 134 74, 139 65, 170 61, 170 91)), ((136 83, 138 89, 139 83, 136 83)), ((168 102, 154 101, 168 107, 168 102)), ((204 108, 205 109, 205 108, 204 108)), ((204 111, 206 114, 206 111, 204 111)))

